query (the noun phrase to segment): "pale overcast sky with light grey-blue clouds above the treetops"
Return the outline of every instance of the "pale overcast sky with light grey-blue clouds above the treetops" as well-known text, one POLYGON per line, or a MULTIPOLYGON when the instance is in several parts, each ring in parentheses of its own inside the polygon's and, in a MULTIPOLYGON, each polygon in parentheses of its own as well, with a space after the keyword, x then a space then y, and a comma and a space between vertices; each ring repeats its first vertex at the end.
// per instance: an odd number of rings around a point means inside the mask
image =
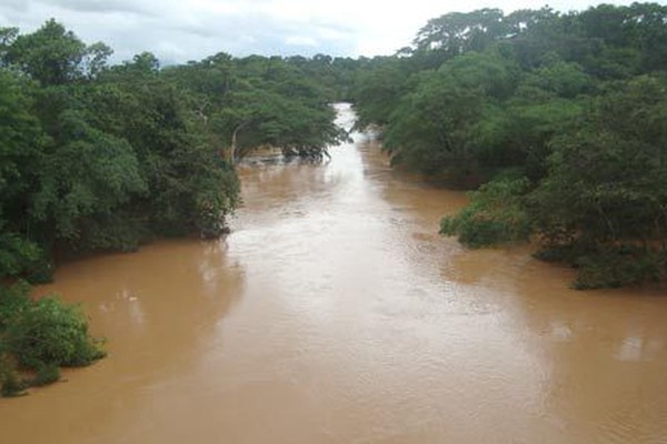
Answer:
MULTIPOLYGON (((665 0, 658 0, 660 2, 665 0)), ((595 0, 556 0, 580 10, 595 0)), ((630 3, 607 0, 607 3, 630 3)), ((56 18, 87 43, 103 41, 115 60, 151 51, 162 62, 233 56, 389 54, 434 17, 496 7, 537 9, 540 0, 0 0, 0 27, 23 32, 56 18)))

